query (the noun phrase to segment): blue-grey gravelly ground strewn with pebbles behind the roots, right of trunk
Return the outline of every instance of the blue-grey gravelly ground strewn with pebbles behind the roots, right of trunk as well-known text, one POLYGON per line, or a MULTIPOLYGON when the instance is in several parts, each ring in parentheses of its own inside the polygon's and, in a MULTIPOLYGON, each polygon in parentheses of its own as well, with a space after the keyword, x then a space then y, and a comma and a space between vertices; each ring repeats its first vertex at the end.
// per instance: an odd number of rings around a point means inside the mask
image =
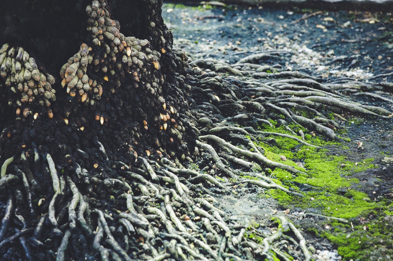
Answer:
MULTIPOLYGON (((375 79, 393 70, 391 13, 166 5, 163 18, 172 28, 174 44, 194 59, 235 63, 251 52, 280 49, 287 53, 261 62, 325 78, 375 79)), ((392 75, 384 78, 391 82, 392 75)))

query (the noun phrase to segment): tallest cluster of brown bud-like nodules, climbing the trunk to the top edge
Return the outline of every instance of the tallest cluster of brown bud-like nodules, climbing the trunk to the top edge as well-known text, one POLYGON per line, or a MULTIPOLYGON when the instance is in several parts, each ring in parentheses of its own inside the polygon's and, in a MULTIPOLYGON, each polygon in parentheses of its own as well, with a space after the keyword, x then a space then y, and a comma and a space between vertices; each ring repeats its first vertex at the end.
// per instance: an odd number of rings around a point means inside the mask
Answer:
POLYGON ((110 18, 105 7, 105 0, 93 0, 92 4, 86 7, 86 13, 90 16, 87 20, 87 31, 91 34, 93 45, 101 49, 92 60, 93 71, 107 74, 105 81, 114 80, 114 87, 109 89, 114 92, 116 87, 119 87, 119 81, 116 78, 111 79, 110 76, 129 73, 139 82, 140 78, 151 70, 149 67, 159 69, 160 53, 149 48, 148 40, 125 37, 120 33, 119 22, 110 18))

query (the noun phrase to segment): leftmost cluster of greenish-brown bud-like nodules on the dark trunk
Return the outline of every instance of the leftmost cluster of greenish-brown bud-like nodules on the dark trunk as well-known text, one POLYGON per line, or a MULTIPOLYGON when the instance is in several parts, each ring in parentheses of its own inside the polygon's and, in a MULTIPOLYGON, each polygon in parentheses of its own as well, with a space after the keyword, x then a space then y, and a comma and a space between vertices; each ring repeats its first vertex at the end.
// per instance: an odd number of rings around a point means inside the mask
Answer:
MULTIPOLYGON (((0 48, 0 75, 11 94, 8 104, 16 106, 17 114, 21 112, 20 107, 25 107, 24 116, 28 116, 26 105, 35 103, 49 107, 51 101, 56 100, 55 90, 51 87, 55 83, 55 78, 41 72, 34 58, 30 57, 22 47, 10 47, 9 44, 4 44, 0 48)), ((48 108, 48 115, 53 116, 50 108, 48 108)))

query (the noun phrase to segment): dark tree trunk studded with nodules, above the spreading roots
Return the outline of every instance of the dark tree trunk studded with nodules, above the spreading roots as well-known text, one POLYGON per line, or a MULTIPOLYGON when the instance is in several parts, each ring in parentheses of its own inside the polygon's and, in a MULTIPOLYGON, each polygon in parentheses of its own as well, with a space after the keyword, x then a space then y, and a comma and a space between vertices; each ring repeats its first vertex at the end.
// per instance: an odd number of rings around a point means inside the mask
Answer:
MULTIPOLYGON (((87 139, 105 136, 109 138, 109 144, 135 149, 139 155, 145 154, 146 150, 156 153, 156 150, 167 148, 178 153, 185 151, 185 147, 181 148, 181 140, 187 127, 183 127, 183 122, 187 122, 188 117, 184 113, 188 105, 184 100, 187 99, 182 84, 184 76, 180 76, 184 68, 181 59, 171 50, 172 34, 163 24, 161 2, 112 1, 88 13, 86 6, 88 1, 54 1, 49 5, 39 1, 17 1, 6 6, 6 15, 1 21, 6 29, 0 35, 0 40, 10 45, 5 54, 12 46, 14 56, 18 47, 23 48, 35 58, 38 69, 44 75, 54 76, 54 83, 47 89, 57 92, 48 92, 47 96, 51 99, 42 96, 43 91, 38 88, 45 89, 44 84, 39 86, 40 82, 35 80, 34 85, 29 76, 22 77, 20 82, 13 78, 10 81, 15 73, 11 72, 12 68, 9 69, 10 73, 4 73, 2 77, 2 85, 10 88, 14 85, 14 88, 2 93, 3 121, 13 120, 15 110, 21 111, 20 115, 26 110, 30 112, 29 117, 19 117, 20 120, 23 125, 35 125, 37 121, 32 121, 35 113, 39 113, 41 121, 46 121, 44 113, 48 113, 57 119, 67 119, 70 126, 83 127, 87 139), (39 12, 45 15, 37 15, 39 12), (113 25, 109 25, 111 21, 113 25), (106 31, 107 28, 116 36, 106 31), (68 76, 65 84, 64 70, 71 74, 78 68, 83 69, 78 58, 72 60, 75 53, 79 55, 81 44, 87 44, 84 51, 90 52, 87 55, 89 61, 84 71, 77 74, 86 74, 89 85, 79 81, 78 86, 71 82, 74 87, 66 91, 72 77, 68 76), (87 51, 87 48, 91 50, 87 51), (59 77, 60 68, 67 60, 68 65, 73 65, 63 66, 59 77), (32 86, 27 88, 24 83, 29 80, 32 86), (61 83, 67 86, 62 89, 61 83), (24 86, 18 90, 18 84, 24 86), (101 117, 104 119, 102 125, 115 127, 99 126, 101 117), (95 121, 95 118, 99 120, 95 121), (143 139, 140 139, 141 136, 143 139)), ((6 54, 4 61, 7 57, 12 59, 11 56, 6 54)), ((40 144, 39 141, 36 143, 40 144)), ((6 146, 4 149, 7 152, 5 157, 17 151, 15 147, 6 146)))

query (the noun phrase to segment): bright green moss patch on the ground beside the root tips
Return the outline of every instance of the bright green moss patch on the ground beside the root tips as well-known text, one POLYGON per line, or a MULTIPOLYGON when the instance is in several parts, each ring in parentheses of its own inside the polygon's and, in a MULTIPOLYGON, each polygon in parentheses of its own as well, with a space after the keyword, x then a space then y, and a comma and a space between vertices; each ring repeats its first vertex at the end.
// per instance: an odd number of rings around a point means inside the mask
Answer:
MULTIPOLYGON (((259 129, 290 134, 284 126, 278 126, 277 122, 272 121, 272 124, 274 127, 264 125, 259 129)), ((299 126, 290 127, 295 131, 302 129, 299 126)), ((356 173, 377 168, 374 159, 353 161, 340 153, 349 149, 347 142, 325 141, 318 134, 306 134, 305 140, 321 148, 305 146, 296 140, 274 135, 260 135, 253 141, 264 149, 264 155, 268 159, 306 173, 293 175, 281 169, 265 169, 266 176, 270 176, 277 184, 301 192, 305 197, 273 189, 266 190, 259 196, 273 197, 283 208, 347 219, 348 223, 325 219, 323 221, 328 225, 324 230, 309 228, 316 235, 326 237, 334 243, 344 260, 366 260, 377 248, 391 255, 393 227, 387 225, 386 215, 392 214, 393 204, 391 200, 370 199, 368 194, 358 190, 362 183, 353 177, 356 173), (287 160, 281 160, 281 155, 287 160)), ((255 170, 261 169, 257 166, 255 170)))

